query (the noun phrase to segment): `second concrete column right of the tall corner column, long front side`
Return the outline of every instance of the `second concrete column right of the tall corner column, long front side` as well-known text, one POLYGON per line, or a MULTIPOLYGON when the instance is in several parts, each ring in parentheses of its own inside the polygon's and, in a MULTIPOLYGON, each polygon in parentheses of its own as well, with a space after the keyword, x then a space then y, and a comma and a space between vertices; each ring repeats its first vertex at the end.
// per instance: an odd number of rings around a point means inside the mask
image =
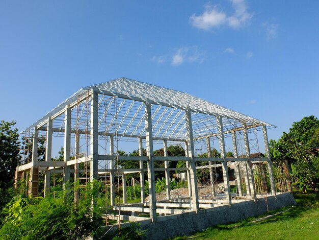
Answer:
POLYGON ((194 139, 193 139, 193 127, 192 127, 192 114, 190 110, 185 111, 186 117, 186 129, 187 129, 187 143, 189 157, 192 158, 190 162, 190 177, 191 177, 191 188, 192 188, 192 210, 198 212, 199 201, 198 201, 198 189, 197 189, 197 177, 196 177, 196 164, 195 164, 195 151, 194 151, 194 139))

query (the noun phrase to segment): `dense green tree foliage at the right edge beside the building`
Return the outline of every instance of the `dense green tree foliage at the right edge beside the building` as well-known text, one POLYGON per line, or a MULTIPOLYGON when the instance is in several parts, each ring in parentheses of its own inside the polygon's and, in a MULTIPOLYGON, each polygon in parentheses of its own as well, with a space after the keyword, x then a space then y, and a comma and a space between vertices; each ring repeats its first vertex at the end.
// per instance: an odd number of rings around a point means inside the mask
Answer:
POLYGON ((286 159, 291 164, 295 190, 306 193, 319 187, 319 119, 308 116, 283 132, 278 141, 270 140, 272 159, 286 159))

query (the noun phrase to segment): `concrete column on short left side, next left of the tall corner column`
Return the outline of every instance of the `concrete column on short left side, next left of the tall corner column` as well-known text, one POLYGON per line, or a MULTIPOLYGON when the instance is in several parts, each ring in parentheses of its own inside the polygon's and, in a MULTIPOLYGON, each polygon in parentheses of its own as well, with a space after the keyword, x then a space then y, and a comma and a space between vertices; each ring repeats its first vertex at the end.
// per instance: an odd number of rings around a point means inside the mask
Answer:
MULTIPOLYGON (((67 162, 70 160, 70 158, 71 158, 71 108, 70 108, 70 105, 66 105, 65 117, 64 117, 64 161, 67 162)), ((63 187, 67 191, 69 191, 70 189, 70 167, 69 166, 64 167, 63 187)))

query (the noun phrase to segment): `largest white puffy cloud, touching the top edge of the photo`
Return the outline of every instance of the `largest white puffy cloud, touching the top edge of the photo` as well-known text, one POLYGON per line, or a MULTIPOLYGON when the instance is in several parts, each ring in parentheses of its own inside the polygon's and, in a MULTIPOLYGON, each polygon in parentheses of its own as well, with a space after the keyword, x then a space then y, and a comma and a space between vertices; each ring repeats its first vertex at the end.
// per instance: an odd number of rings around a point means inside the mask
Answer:
POLYGON ((231 28, 239 28, 250 21, 253 14, 247 11, 245 0, 230 0, 231 6, 235 11, 232 15, 227 15, 224 11, 219 10, 217 5, 205 5, 205 11, 202 15, 193 14, 190 17, 190 23, 196 28, 211 30, 222 25, 231 28))

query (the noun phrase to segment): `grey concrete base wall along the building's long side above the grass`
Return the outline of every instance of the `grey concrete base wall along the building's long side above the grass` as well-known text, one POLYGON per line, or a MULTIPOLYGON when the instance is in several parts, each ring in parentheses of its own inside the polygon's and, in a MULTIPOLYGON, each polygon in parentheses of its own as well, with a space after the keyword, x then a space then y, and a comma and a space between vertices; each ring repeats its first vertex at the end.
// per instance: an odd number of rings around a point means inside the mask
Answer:
MULTIPOLYGON (((285 193, 270 196, 267 198, 269 210, 295 205, 296 201, 292 194, 285 193)), ((249 217, 257 217, 267 212, 267 205, 264 198, 242 203, 202 209, 196 212, 186 212, 181 214, 158 217, 156 222, 150 220, 141 221, 141 227, 146 231, 147 239, 168 239, 178 235, 188 235, 192 232, 202 231, 208 227, 218 224, 233 223, 249 217)), ((126 225, 126 224, 123 224, 126 225)), ((123 226, 121 225, 121 226, 123 226)))

